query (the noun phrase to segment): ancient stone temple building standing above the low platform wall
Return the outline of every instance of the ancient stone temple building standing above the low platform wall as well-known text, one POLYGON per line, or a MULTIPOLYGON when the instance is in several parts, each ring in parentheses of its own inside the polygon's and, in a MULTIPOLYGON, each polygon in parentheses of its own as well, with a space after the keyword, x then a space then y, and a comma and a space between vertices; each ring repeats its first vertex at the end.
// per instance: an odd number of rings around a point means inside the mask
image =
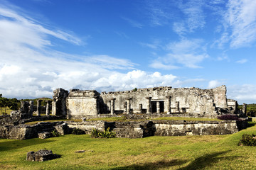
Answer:
POLYGON ((217 117, 218 108, 236 110, 236 101, 227 100, 226 87, 215 89, 178 88, 171 86, 132 91, 102 92, 56 89, 53 96, 53 115, 83 118, 99 114, 189 113, 217 117))

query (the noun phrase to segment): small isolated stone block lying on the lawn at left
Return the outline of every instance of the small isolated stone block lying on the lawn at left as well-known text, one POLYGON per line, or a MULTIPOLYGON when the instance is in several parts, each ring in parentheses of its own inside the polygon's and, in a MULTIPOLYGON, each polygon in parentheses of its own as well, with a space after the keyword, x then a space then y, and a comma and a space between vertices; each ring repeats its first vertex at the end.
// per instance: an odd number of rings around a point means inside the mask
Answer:
POLYGON ((38 152, 28 152, 26 160, 31 162, 44 162, 58 157, 60 156, 53 154, 51 150, 41 149, 38 152))

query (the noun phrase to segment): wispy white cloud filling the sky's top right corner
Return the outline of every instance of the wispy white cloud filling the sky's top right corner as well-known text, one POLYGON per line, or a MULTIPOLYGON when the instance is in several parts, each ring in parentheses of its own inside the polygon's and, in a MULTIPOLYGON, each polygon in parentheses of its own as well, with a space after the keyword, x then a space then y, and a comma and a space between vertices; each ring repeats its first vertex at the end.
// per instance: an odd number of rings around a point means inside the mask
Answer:
POLYGON ((228 41, 230 47, 252 45, 256 40, 256 1, 230 0, 227 6, 223 23, 225 31, 220 44, 228 41))

